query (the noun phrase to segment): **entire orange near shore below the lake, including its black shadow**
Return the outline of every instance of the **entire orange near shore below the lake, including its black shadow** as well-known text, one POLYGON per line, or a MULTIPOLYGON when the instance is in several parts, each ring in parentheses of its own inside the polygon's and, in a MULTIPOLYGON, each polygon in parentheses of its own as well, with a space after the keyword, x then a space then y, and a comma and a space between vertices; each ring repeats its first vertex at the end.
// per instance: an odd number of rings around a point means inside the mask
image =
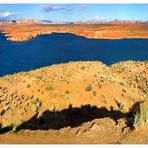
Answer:
POLYGON ((148 143, 147 128, 132 131, 129 116, 147 93, 147 61, 70 62, 6 75, 0 143, 148 143))

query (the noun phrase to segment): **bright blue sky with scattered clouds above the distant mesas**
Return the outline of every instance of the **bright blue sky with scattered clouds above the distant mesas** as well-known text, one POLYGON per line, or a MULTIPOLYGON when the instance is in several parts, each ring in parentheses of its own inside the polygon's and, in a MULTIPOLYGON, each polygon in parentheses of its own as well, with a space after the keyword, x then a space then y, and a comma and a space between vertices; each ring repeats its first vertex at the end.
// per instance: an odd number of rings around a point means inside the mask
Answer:
POLYGON ((0 4, 0 20, 148 20, 148 4, 0 4))

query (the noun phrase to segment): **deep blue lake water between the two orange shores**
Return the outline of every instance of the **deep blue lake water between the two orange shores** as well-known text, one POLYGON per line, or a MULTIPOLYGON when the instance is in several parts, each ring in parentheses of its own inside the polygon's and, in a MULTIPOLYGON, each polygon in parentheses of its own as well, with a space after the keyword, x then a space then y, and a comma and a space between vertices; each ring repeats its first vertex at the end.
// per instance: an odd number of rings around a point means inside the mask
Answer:
POLYGON ((0 33, 0 76, 80 60, 98 60, 107 65, 124 60, 148 60, 148 39, 87 39, 53 33, 13 42, 0 33))

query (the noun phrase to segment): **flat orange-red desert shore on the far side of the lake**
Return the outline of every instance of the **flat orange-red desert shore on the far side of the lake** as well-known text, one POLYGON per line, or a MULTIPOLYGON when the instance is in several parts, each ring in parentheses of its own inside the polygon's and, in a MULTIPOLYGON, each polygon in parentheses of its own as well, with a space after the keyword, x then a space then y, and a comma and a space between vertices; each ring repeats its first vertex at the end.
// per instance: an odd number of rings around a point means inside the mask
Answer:
POLYGON ((8 40, 26 41, 41 34, 73 33, 94 39, 148 38, 148 26, 129 25, 11 25, 0 27, 8 40))

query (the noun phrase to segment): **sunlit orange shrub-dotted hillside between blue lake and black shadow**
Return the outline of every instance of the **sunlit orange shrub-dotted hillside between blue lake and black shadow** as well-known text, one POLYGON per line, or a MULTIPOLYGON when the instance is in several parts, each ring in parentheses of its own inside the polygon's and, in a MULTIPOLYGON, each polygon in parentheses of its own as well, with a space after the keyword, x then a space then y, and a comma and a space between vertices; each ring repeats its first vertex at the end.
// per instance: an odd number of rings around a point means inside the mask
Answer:
POLYGON ((40 69, 1 78, 0 124, 7 125, 9 122, 15 125, 17 121, 29 120, 47 109, 57 112, 67 108, 69 102, 72 108, 87 102, 107 110, 127 111, 146 95, 147 72, 140 72, 146 70, 139 66, 138 72, 131 70, 128 73, 126 64, 126 69, 120 74, 117 72, 118 67, 113 67, 102 66, 99 62, 71 62, 44 68, 45 73, 41 73, 40 69), (10 118, 7 118, 8 115, 10 118))

